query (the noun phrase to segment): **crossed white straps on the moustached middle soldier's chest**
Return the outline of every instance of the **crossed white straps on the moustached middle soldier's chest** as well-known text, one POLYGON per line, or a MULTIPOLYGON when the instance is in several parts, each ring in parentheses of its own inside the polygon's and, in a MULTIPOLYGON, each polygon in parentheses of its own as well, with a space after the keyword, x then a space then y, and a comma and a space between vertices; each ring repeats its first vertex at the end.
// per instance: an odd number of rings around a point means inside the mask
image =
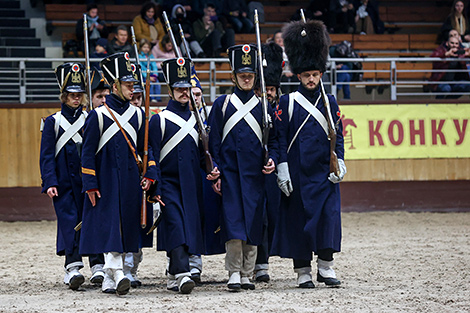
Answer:
POLYGON ((193 137, 196 146, 199 143, 199 134, 194 128, 196 125, 196 118, 194 114, 191 114, 189 120, 185 121, 182 117, 176 115, 175 113, 164 110, 158 114, 160 116, 161 125, 162 125, 162 139, 165 132, 165 119, 173 122, 174 124, 180 127, 173 137, 171 137, 160 150, 160 161, 161 162, 167 155, 170 153, 187 135, 193 137))

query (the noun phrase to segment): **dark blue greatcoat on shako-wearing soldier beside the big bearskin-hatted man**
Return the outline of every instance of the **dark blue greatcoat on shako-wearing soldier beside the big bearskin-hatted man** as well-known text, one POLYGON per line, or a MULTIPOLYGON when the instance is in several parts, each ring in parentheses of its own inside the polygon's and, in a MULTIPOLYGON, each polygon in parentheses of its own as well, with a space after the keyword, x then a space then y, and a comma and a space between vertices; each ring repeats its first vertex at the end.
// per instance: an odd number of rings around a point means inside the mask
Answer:
MULTIPOLYGON (((238 88, 235 88, 234 94, 242 103, 247 103, 254 96, 253 91, 245 92, 238 88)), ((246 240, 248 244, 258 245, 261 243, 263 229, 264 150, 258 137, 244 119, 232 128, 222 142, 224 126, 236 112, 230 100, 223 113, 225 97, 221 96, 215 100, 209 115, 211 154, 219 164, 222 176, 221 236, 224 241, 240 239, 246 240)), ((258 101, 251 114, 261 129, 262 112, 261 102, 258 101)), ((269 154, 277 163, 274 130, 270 132, 269 154)))

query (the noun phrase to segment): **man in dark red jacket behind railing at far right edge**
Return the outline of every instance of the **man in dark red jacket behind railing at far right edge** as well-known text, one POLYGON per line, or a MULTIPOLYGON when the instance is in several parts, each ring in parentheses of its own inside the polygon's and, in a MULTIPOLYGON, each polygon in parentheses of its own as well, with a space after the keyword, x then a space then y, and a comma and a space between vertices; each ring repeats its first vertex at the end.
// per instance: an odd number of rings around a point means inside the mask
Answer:
MULTIPOLYGON (((467 65, 465 61, 459 60, 461 58, 468 58, 470 56, 470 49, 462 49, 459 44, 458 38, 450 37, 447 42, 442 43, 431 54, 431 57, 454 59, 450 61, 433 62, 433 70, 439 70, 438 72, 433 72, 431 75, 431 81, 439 82, 431 85, 433 91, 447 93, 470 92, 470 84, 458 83, 460 81, 470 83, 467 65), (465 71, 456 72, 455 70, 465 71)), ((458 99, 460 97, 461 95, 458 94, 449 94, 438 95, 436 99, 458 99)))

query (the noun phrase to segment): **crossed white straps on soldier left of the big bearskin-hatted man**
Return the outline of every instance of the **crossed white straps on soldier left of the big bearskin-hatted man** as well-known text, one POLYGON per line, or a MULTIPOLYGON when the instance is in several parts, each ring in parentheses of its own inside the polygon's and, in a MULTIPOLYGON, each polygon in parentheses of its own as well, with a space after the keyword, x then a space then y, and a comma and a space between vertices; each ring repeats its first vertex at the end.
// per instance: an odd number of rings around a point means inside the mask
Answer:
POLYGON ((237 97, 236 94, 232 94, 230 97, 230 102, 237 110, 230 118, 228 119, 227 123, 225 123, 224 131, 222 134, 222 142, 224 141, 225 137, 230 133, 232 128, 244 119, 246 123, 250 126, 250 128, 255 133, 256 137, 258 137, 260 143, 262 142, 262 132, 261 127, 254 118, 253 114, 251 114, 251 110, 253 110, 256 105, 259 103, 259 99, 256 96, 251 97, 251 99, 247 103, 241 102, 241 100, 237 97))

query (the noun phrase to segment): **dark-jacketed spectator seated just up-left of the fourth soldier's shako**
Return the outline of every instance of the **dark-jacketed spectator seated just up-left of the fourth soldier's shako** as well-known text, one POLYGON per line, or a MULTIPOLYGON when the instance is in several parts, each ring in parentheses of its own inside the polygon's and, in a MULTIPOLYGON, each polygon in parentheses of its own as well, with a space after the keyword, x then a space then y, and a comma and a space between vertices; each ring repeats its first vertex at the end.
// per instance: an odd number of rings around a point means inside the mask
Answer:
POLYGON ((224 30, 212 3, 206 4, 204 16, 193 23, 193 28, 196 40, 211 58, 235 45, 235 32, 231 28, 224 30))

